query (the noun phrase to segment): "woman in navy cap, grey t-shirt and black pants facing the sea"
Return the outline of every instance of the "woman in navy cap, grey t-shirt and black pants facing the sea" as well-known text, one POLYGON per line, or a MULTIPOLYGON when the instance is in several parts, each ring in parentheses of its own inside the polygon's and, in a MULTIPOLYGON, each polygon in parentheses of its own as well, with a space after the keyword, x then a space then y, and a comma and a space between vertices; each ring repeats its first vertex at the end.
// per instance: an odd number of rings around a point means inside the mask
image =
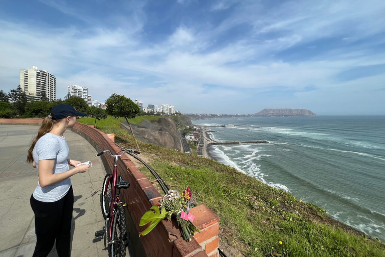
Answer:
POLYGON ((35 213, 36 247, 33 256, 47 256, 56 239, 59 257, 70 256, 71 220, 74 194, 71 176, 88 170, 89 165, 68 158, 63 133, 74 127, 77 116, 85 116, 69 104, 52 108, 32 143, 27 161, 38 168, 39 181, 31 196, 35 213), (69 170, 69 165, 75 167, 69 170))

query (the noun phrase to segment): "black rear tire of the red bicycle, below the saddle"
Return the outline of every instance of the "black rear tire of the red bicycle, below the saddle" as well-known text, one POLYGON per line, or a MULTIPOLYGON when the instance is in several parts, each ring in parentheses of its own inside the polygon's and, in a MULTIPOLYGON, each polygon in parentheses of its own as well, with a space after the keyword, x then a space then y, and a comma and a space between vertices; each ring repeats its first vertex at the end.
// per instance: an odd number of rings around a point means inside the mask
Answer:
POLYGON ((111 241, 115 242, 110 245, 110 256, 126 256, 127 224, 124 207, 121 204, 116 205, 111 241))

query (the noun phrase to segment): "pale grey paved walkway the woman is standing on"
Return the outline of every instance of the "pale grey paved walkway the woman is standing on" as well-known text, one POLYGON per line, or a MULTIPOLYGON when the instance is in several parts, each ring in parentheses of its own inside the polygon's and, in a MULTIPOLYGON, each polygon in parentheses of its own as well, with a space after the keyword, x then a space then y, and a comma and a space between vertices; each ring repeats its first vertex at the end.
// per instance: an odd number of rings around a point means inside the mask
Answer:
MULTIPOLYGON (((35 248, 34 213, 30 197, 36 188, 37 170, 26 163, 27 151, 38 125, 0 124, 0 257, 29 257, 35 248)), ((81 136, 67 131, 70 159, 91 161, 88 172, 71 178, 74 189, 72 257, 108 256, 103 239, 94 233, 104 226, 99 195, 106 174, 96 150, 81 136)), ((127 251, 127 256, 128 256, 127 251)), ((50 257, 57 256, 53 249, 50 257)))

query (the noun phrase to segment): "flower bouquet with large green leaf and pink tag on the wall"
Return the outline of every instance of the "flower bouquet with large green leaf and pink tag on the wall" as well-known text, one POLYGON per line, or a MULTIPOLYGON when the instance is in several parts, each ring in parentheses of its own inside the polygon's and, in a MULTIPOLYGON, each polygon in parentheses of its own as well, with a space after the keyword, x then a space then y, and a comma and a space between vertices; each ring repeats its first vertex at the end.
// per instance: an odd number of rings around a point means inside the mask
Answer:
POLYGON ((150 224, 139 235, 146 235, 164 218, 176 217, 184 240, 191 240, 195 231, 200 232, 200 229, 193 224, 194 215, 189 213, 189 209, 195 206, 195 200, 191 197, 188 187, 180 194, 176 190, 168 190, 168 193, 160 200, 160 209, 159 205, 154 205, 140 219, 139 226, 150 224))

